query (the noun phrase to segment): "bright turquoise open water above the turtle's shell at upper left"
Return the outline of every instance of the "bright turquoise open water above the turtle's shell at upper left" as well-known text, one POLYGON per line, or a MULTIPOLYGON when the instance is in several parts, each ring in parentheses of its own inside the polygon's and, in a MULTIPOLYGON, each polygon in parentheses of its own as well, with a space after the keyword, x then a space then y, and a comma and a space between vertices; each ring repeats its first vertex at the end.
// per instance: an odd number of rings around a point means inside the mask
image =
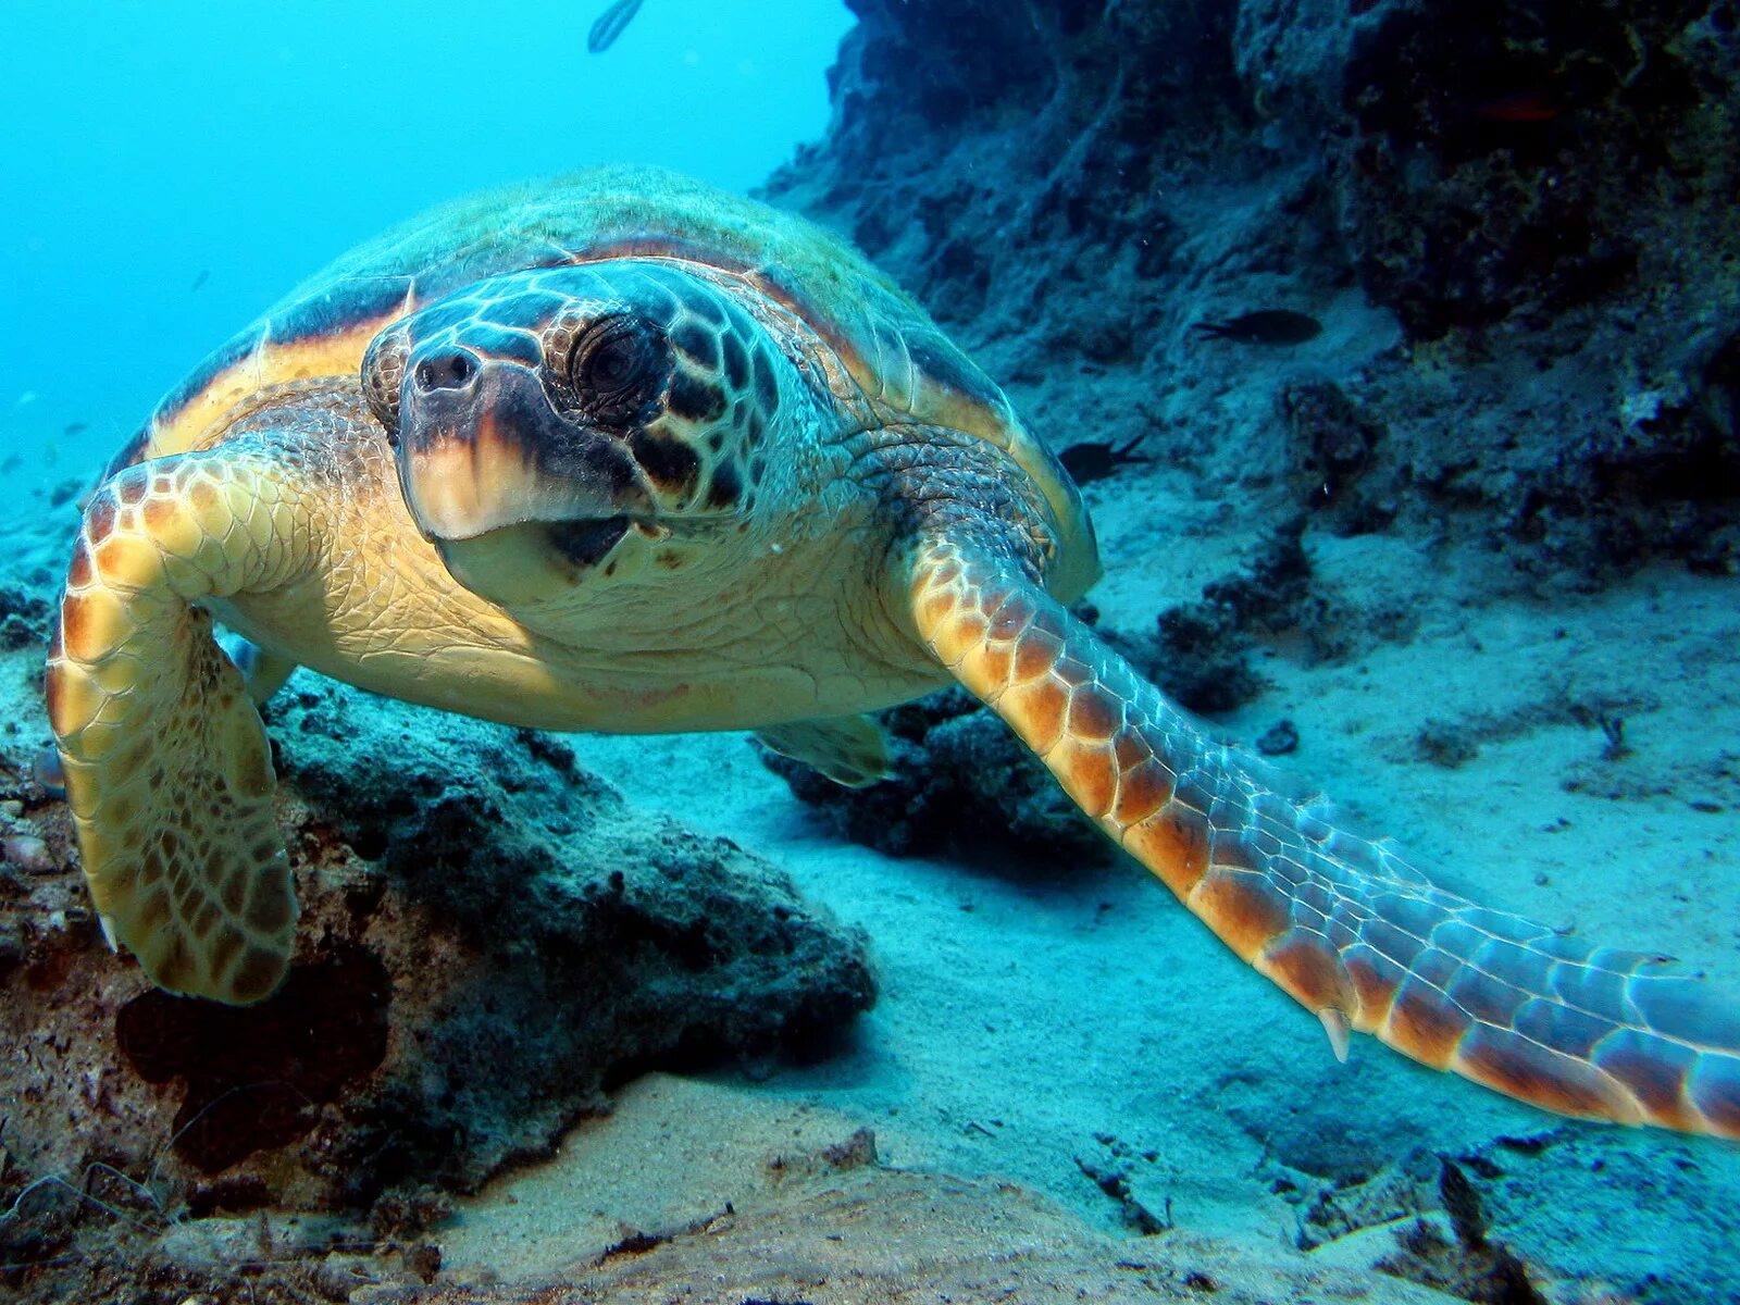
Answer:
POLYGON ((616 160, 746 190, 821 136, 839 0, 647 0, 593 56, 604 7, 7 3, 0 447, 106 458, 209 348, 438 200, 616 160))

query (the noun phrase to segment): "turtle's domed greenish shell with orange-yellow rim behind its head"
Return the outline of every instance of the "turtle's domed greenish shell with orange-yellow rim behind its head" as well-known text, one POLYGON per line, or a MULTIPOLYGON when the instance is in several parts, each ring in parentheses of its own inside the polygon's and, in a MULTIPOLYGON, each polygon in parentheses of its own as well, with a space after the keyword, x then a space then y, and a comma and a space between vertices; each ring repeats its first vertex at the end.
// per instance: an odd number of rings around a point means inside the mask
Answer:
POLYGON ((204 447, 261 390, 355 376, 374 336, 485 277, 670 258, 738 277, 821 336, 882 414, 974 435, 1007 452, 1063 538, 1049 576, 1074 599, 1098 578, 1093 527, 1058 459, 1002 390, 894 282, 835 235, 659 169, 606 167, 442 205, 350 251, 211 353, 157 405, 110 472, 204 447))

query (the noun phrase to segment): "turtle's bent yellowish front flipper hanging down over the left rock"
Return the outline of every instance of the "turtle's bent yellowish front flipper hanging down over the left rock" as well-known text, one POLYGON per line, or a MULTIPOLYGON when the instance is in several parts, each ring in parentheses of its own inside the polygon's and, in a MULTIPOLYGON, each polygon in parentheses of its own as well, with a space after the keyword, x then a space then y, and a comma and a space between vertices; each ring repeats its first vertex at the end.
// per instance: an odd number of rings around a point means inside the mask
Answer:
POLYGON ((252 1002, 284 978, 296 894, 271 753, 198 606, 308 569, 294 465, 242 438, 108 480, 49 651, 49 720, 110 940, 171 992, 252 1002))

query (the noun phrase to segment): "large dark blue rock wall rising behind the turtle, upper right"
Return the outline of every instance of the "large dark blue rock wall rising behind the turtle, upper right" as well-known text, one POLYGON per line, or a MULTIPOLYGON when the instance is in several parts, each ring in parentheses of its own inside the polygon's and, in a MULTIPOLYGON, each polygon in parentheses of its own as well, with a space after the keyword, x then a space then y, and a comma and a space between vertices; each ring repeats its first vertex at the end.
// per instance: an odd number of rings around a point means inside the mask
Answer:
POLYGON ((826 148, 767 193, 1060 447, 1147 435, 1260 529, 1324 447, 1293 379, 1260 421, 1204 397, 1274 381, 1188 327, 1355 294, 1402 348, 1300 357, 1389 432, 1331 529, 1496 545, 1496 583, 1740 564, 1733 0, 853 7, 826 148))

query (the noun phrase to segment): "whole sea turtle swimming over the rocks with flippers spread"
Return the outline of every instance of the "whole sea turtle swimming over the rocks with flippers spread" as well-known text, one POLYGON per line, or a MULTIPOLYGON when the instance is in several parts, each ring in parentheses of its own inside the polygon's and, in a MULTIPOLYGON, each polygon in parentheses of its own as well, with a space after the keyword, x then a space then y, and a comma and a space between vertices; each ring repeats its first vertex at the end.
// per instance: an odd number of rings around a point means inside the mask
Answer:
POLYGON ((884 773, 861 713, 959 680, 1338 1054, 1740 1136, 1740 1013, 1284 797, 1070 614, 1096 576, 1056 458, 853 249, 606 169, 412 221, 211 355, 85 510, 47 703, 103 924, 172 992, 289 966, 254 701, 294 665, 546 729, 759 729, 846 783, 884 773))

